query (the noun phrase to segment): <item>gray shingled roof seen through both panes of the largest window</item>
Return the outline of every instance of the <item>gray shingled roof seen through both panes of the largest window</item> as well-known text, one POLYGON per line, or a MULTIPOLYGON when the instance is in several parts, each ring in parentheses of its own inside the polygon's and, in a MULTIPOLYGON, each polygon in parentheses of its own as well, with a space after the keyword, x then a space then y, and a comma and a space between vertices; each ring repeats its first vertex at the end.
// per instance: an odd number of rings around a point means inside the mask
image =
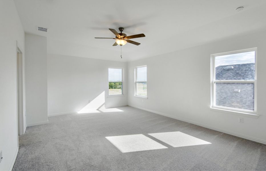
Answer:
MULTIPOLYGON (((217 66, 215 76, 216 80, 254 80, 255 63, 217 66), (233 69, 225 70, 226 66, 233 69)), ((215 83, 215 96, 217 106, 254 110, 254 83, 215 83)))

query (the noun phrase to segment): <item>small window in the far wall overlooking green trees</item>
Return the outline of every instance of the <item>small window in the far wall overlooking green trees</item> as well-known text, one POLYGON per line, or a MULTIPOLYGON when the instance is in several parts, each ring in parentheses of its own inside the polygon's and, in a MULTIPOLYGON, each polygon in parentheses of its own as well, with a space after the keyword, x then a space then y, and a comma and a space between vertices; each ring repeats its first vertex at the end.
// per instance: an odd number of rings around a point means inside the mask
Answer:
POLYGON ((108 68, 109 95, 123 94, 123 68, 108 68))

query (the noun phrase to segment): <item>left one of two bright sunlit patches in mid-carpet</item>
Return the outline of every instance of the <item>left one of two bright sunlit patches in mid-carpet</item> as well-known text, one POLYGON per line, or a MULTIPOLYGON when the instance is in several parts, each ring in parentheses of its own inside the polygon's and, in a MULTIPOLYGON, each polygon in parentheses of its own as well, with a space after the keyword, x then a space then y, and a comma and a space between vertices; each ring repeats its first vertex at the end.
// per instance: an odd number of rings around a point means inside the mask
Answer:
POLYGON ((121 152, 135 152, 167 148, 143 134, 105 137, 121 152))

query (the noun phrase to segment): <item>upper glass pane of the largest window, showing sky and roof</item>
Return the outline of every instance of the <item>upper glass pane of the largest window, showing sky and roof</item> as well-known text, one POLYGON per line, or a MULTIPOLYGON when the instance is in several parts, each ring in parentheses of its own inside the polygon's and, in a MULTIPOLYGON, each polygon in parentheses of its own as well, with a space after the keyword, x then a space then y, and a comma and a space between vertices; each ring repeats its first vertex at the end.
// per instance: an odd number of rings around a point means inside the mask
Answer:
POLYGON ((216 80, 255 80, 255 51, 215 57, 216 80))

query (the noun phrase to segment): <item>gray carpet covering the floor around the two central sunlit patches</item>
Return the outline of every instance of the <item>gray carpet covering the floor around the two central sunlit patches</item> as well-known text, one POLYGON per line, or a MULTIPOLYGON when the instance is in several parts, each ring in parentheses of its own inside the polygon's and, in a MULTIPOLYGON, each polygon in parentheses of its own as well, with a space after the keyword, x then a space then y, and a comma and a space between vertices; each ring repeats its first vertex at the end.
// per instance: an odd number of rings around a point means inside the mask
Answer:
POLYGON ((53 116, 28 127, 19 136, 13 170, 266 170, 266 145, 133 107, 118 109, 123 112, 53 116), (211 144, 173 147, 148 135, 174 131, 211 144), (122 153, 105 138, 134 134, 167 148, 122 153))

